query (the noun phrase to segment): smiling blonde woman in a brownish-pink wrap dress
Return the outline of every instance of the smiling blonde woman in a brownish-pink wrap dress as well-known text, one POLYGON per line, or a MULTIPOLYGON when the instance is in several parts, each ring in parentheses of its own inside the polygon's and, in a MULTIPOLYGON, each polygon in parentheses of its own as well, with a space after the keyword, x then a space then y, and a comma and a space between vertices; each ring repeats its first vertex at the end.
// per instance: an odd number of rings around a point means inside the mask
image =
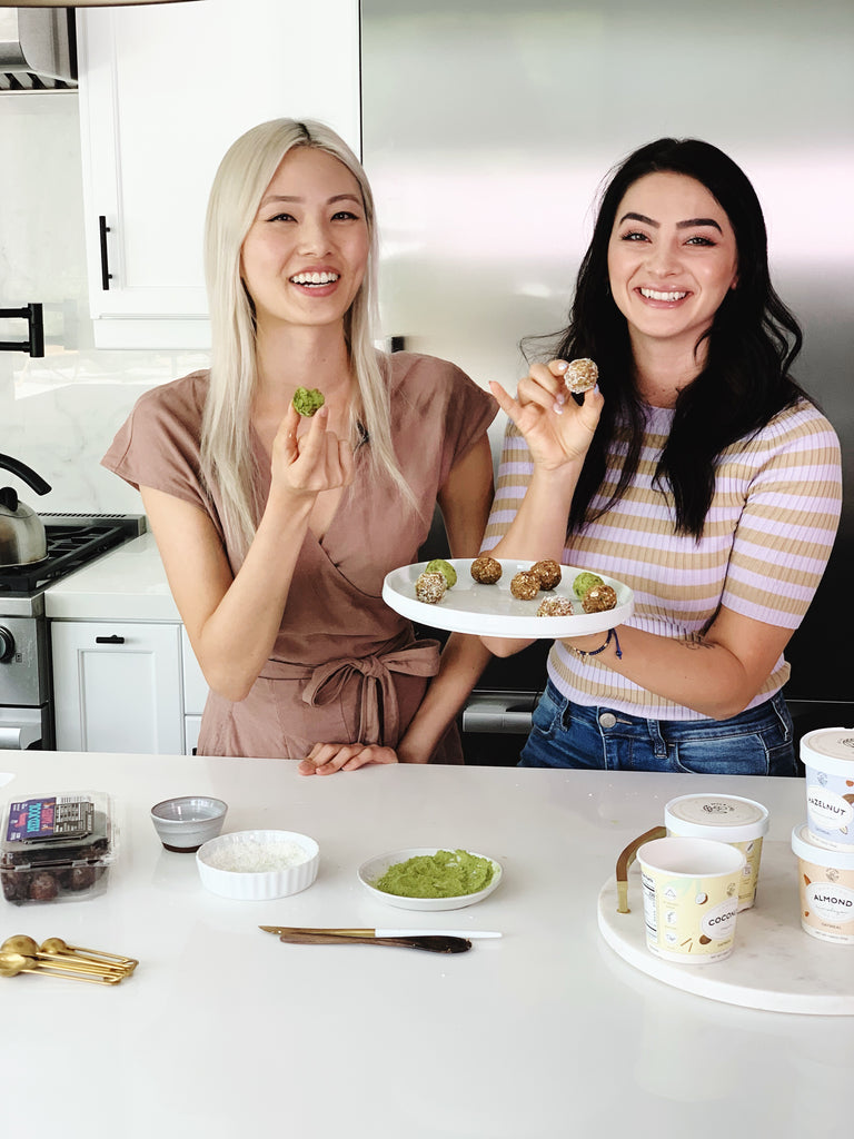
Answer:
POLYGON ((375 350, 376 244, 337 134, 244 134, 206 219, 211 370, 146 393, 102 460, 141 491, 211 688, 199 754, 306 775, 461 761, 453 721, 487 654, 452 636, 440 659, 380 595, 436 502, 452 555, 478 552, 496 404, 453 364, 375 350), (313 417, 299 387, 323 393, 313 417))

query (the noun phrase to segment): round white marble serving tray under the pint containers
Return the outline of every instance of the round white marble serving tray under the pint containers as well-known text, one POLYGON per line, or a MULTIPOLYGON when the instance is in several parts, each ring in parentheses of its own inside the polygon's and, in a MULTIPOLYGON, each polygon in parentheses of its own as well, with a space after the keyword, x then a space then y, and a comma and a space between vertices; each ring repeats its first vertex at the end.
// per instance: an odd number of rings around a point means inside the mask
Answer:
POLYGON ((640 868, 629 872, 630 913, 617 912, 616 876, 599 894, 599 931, 635 968, 684 992, 772 1013, 854 1015, 854 945, 819 941, 800 927, 798 865, 788 843, 765 842, 756 904, 742 910, 724 961, 681 965, 647 949, 640 868))

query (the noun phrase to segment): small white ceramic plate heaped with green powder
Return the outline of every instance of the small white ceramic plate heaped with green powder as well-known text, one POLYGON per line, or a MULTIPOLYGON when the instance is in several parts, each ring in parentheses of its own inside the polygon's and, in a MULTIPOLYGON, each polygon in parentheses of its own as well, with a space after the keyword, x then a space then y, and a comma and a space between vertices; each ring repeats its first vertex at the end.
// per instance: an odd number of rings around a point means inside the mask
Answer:
POLYGON ((501 882, 501 866, 460 846, 418 846, 368 859, 359 879, 389 906, 455 910, 488 896, 501 882))

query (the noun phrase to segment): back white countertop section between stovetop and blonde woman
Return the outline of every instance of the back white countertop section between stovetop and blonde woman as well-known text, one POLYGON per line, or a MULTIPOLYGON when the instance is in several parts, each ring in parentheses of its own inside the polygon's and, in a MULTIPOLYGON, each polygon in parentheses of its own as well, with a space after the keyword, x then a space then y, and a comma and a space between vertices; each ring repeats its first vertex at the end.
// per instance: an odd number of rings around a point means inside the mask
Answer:
POLYGON ((44 609, 68 621, 181 620, 150 532, 49 587, 44 609))

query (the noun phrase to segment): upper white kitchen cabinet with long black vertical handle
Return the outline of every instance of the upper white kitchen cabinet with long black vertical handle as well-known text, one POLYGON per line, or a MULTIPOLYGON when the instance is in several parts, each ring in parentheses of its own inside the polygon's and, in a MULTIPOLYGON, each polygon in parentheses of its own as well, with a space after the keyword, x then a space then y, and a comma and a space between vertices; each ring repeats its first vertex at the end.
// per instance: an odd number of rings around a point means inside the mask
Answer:
POLYGON ((360 153, 359 0, 83 8, 77 38, 95 343, 205 349, 216 166, 282 115, 327 122, 360 153))

